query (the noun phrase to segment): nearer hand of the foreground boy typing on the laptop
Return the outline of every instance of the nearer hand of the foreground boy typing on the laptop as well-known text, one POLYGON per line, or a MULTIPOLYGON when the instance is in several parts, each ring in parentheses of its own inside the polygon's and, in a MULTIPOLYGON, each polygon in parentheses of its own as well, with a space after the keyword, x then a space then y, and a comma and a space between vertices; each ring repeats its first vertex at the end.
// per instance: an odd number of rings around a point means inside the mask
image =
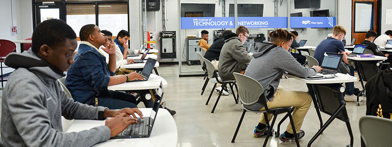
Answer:
POLYGON ((125 113, 121 113, 105 121, 105 126, 110 129, 110 137, 120 134, 131 124, 137 124, 137 119, 129 117, 125 113))

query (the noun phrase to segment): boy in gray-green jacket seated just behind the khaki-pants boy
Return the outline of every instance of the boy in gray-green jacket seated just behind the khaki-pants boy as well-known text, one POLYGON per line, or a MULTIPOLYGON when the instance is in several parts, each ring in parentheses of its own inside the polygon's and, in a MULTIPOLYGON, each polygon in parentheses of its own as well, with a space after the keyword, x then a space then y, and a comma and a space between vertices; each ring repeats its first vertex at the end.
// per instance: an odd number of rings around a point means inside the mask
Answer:
MULTIPOLYGON (((251 62, 252 57, 248 55, 243 43, 249 37, 249 30, 239 26, 234 33, 225 35, 225 44, 219 55, 218 73, 222 80, 233 80, 233 72, 241 72, 247 68, 246 63, 251 62)), ((243 71, 241 72, 243 74, 243 71)))

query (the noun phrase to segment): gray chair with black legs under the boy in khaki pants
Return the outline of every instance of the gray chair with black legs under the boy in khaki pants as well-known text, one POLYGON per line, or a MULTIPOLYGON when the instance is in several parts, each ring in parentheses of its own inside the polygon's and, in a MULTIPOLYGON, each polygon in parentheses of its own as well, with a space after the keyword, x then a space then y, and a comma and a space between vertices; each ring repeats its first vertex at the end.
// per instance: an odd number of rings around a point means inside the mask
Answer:
MULTIPOLYGON (((290 119, 290 124, 292 126, 292 131, 294 132, 294 136, 296 138, 296 143, 297 146, 300 146, 300 142, 298 140, 298 135, 296 133, 296 128, 294 127, 293 121, 292 121, 292 116, 291 112, 294 110, 292 107, 282 107, 282 108, 274 108, 274 109, 269 109, 267 106, 266 98, 264 95, 264 90, 263 86, 256 81, 255 79, 245 76, 242 74, 239 74, 237 72, 233 73, 234 78, 237 81, 238 84, 238 94, 239 94, 239 101, 242 103, 242 115, 241 118, 239 119, 237 129, 235 130, 233 139, 231 140, 232 143, 234 143, 235 138, 237 136, 239 127, 241 126, 243 116, 247 111, 254 112, 254 113, 264 113, 265 120, 267 122, 267 127, 268 128, 274 128, 274 124, 277 118, 278 114, 281 113, 287 113, 286 116, 283 117, 283 119, 279 122, 278 124, 278 130, 275 132, 275 137, 279 137, 279 129, 280 125, 282 122, 287 118, 290 119), (264 108, 264 111, 260 111, 260 109, 264 108), (274 118, 272 119, 271 125, 269 125, 269 121, 267 118, 266 113, 271 113, 274 115, 274 118)), ((267 137, 264 140, 263 146, 266 146, 268 142, 269 136, 272 135, 272 129, 269 129, 267 133, 267 137)))

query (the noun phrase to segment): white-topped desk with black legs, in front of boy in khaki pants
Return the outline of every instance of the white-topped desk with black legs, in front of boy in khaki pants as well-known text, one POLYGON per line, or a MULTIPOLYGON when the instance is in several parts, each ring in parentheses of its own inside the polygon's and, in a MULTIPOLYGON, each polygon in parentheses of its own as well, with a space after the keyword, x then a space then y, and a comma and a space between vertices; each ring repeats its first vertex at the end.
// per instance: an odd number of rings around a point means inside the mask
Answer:
POLYGON ((357 81, 356 77, 336 74, 336 78, 332 79, 320 79, 320 80, 306 80, 303 78, 298 78, 293 75, 284 74, 286 77, 294 78, 305 82, 310 95, 312 96, 312 101, 314 108, 316 109, 318 120, 320 120, 320 130, 312 137, 309 141, 308 146, 310 146, 313 141, 323 133, 323 131, 331 124, 331 122, 338 118, 339 120, 345 121, 347 129, 350 134, 350 145, 353 146, 354 136, 351 130, 351 125, 349 121, 349 116, 346 110, 346 102, 343 93, 340 91, 342 88, 341 84, 346 82, 357 81), (329 97, 331 96, 331 97, 329 97), (332 97, 334 96, 334 97, 332 97), (336 97, 337 96, 337 97, 336 97), (337 98, 337 99, 332 99, 337 98), (321 118, 321 112, 331 115, 330 118, 323 125, 323 119, 321 118))

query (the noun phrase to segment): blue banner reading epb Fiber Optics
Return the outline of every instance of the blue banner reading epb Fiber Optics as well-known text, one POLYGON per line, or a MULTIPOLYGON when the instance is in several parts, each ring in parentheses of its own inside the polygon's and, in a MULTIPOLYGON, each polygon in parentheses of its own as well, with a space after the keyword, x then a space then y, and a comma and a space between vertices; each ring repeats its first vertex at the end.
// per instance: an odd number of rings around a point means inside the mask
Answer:
POLYGON ((333 28, 335 17, 290 17, 290 28, 333 28))

